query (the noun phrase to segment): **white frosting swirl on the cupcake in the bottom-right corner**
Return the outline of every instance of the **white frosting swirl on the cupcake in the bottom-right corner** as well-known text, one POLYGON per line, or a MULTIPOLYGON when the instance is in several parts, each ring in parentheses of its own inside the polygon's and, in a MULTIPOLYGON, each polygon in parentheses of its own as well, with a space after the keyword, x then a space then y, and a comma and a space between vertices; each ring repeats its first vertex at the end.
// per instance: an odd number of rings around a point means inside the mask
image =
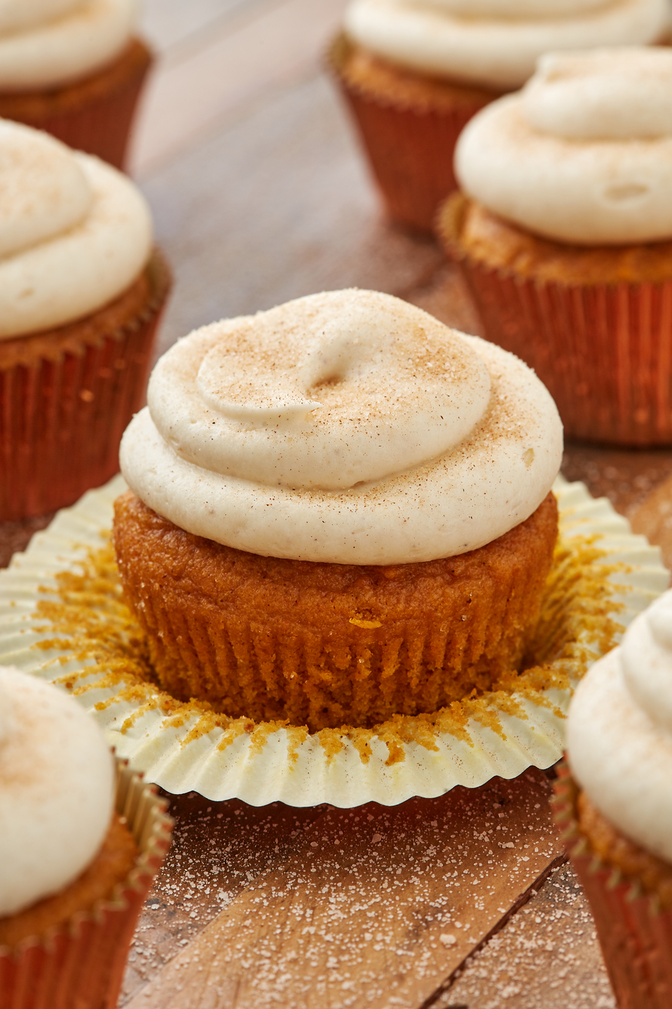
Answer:
POLYGON ((672 591, 579 684, 567 750, 573 776, 600 812, 672 862, 672 591))

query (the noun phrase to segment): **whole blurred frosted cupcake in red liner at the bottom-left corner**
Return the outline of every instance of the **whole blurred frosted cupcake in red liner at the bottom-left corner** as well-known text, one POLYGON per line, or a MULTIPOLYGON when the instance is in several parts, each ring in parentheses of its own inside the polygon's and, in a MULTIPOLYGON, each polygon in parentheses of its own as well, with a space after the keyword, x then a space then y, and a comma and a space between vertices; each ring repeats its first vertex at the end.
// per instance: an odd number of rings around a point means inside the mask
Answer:
POLYGON ((0 668, 0 1004, 115 1006, 164 802, 66 693, 0 668))

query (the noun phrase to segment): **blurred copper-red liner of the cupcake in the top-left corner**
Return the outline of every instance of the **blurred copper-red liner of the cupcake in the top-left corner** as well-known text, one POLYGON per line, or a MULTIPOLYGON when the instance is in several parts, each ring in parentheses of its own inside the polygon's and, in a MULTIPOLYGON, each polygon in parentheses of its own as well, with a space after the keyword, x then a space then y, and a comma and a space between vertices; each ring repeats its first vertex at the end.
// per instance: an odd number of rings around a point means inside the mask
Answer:
POLYGON ((134 39, 114 63, 75 84, 0 93, 0 117, 45 130, 69 147, 123 169, 135 107, 152 62, 146 45, 134 39))

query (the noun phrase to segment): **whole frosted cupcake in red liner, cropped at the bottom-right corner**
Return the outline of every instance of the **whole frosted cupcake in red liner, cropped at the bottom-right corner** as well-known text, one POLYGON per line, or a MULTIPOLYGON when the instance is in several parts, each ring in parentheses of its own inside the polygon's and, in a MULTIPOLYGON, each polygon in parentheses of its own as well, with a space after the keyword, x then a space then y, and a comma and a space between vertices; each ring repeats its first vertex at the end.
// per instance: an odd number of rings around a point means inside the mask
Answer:
POLYGON ((622 1009, 672 1004, 672 592, 574 695, 558 818, 622 1009))

